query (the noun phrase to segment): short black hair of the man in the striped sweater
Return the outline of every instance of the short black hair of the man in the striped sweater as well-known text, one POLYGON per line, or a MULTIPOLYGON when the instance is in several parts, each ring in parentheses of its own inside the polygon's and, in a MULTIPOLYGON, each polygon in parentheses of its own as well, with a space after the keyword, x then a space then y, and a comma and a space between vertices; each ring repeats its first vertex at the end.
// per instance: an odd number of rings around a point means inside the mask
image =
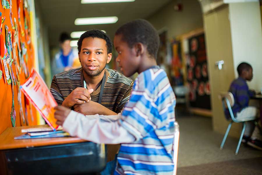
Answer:
POLYGON ((101 39, 105 40, 106 46, 107 46, 107 53, 112 53, 113 43, 112 43, 110 37, 105 32, 98 30, 98 29, 88 30, 80 36, 80 38, 77 42, 78 52, 81 51, 83 39, 88 38, 88 37, 101 38, 101 39))

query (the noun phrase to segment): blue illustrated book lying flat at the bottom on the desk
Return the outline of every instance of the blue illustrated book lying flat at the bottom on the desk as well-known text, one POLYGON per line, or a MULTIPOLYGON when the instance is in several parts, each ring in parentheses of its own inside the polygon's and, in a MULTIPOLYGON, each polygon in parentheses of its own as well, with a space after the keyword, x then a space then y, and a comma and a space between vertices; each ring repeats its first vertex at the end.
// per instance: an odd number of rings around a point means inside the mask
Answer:
POLYGON ((53 134, 45 134, 45 135, 37 135, 31 136, 28 133, 23 134, 21 136, 15 137, 15 139, 42 139, 42 138, 54 138, 54 137, 69 137, 70 134, 64 131, 54 131, 53 134))

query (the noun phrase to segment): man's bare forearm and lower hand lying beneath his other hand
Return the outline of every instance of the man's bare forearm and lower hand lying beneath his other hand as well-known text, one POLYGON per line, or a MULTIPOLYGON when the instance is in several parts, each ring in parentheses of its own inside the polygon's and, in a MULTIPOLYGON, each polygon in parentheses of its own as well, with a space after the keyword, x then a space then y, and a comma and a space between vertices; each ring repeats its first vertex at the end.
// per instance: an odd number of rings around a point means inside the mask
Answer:
POLYGON ((111 111, 105 106, 91 100, 88 103, 75 104, 74 111, 82 113, 84 115, 117 115, 117 113, 111 111))

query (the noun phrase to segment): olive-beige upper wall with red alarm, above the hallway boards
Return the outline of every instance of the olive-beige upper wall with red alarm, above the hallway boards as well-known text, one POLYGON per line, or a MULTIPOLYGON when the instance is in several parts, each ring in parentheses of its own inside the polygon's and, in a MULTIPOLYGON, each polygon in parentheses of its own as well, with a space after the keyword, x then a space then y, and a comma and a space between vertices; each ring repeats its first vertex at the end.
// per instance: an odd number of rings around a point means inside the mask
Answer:
POLYGON ((203 28, 203 17, 197 0, 174 0, 147 19, 157 30, 167 29, 167 38, 172 39, 194 29, 203 28), (181 3, 181 11, 174 5, 181 3))

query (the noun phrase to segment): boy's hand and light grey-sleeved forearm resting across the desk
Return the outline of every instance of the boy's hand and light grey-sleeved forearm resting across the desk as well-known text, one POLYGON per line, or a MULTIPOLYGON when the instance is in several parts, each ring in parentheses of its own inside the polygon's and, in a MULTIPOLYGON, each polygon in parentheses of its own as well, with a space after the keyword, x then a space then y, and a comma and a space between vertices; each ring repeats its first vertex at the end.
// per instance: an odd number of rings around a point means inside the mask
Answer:
MULTIPOLYGON (((65 109, 63 106, 57 107, 55 117, 60 121, 62 113, 69 109, 65 109)), ((131 143, 135 138, 119 124, 117 120, 120 117, 119 115, 121 114, 109 116, 111 118, 109 120, 108 116, 98 114, 85 116, 75 111, 70 111, 67 117, 64 116, 63 129, 71 136, 78 136, 95 143, 131 143), (112 122, 115 119, 116 121, 112 122)))

